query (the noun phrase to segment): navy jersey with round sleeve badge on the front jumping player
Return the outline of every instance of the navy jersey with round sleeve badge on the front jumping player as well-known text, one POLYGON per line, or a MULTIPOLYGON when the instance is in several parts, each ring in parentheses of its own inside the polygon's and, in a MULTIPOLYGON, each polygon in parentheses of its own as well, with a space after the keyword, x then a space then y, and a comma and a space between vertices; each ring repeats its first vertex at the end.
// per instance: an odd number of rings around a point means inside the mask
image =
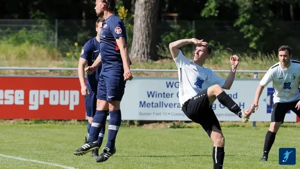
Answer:
POLYGON ((124 37, 125 43, 127 43, 124 22, 112 14, 102 23, 102 30, 100 31, 100 52, 103 67, 123 65, 120 50, 115 41, 117 37, 124 37))

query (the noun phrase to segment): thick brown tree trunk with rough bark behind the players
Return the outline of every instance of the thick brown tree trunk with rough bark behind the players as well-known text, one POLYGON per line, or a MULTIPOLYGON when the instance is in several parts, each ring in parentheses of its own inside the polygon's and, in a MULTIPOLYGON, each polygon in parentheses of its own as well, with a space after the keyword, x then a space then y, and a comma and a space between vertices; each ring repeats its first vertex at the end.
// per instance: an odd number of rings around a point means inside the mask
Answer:
POLYGON ((137 60, 157 60, 156 22, 159 0, 136 0, 130 57, 137 60))

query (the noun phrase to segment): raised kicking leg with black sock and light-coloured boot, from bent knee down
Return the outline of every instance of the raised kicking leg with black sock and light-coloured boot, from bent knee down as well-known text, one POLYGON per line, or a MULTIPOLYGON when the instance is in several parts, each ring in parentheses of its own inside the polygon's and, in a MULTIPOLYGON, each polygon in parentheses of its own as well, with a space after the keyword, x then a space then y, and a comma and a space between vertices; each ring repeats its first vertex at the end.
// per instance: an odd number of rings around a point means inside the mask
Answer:
POLYGON ((242 122, 247 122, 251 113, 254 112, 254 105, 251 104, 249 108, 240 109, 239 106, 228 96, 225 91, 218 84, 214 84, 207 88, 207 95, 209 99, 209 105, 211 105, 215 99, 226 106, 231 112, 235 113, 242 122))

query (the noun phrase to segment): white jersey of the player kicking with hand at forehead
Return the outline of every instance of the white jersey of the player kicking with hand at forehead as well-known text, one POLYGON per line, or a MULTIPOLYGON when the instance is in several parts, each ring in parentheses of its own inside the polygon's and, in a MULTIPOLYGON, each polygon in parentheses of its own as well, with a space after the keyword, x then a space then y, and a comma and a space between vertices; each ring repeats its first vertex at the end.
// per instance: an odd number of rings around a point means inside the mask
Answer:
POLYGON ((225 80, 217 76, 211 69, 204 68, 186 58, 181 50, 174 61, 178 68, 180 106, 198 92, 214 85, 224 85, 225 80))

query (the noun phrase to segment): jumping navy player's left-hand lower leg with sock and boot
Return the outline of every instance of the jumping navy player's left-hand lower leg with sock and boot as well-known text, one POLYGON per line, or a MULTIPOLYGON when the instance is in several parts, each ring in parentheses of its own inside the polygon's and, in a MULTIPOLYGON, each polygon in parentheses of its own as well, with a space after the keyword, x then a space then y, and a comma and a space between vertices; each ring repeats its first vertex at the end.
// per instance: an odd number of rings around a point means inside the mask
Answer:
POLYGON ((100 130, 107 118, 108 102, 105 100, 97 99, 96 114, 93 117, 91 123, 88 140, 84 144, 76 149, 73 154, 75 155, 84 155, 87 152, 95 151, 99 149, 99 144, 97 142, 100 130))

